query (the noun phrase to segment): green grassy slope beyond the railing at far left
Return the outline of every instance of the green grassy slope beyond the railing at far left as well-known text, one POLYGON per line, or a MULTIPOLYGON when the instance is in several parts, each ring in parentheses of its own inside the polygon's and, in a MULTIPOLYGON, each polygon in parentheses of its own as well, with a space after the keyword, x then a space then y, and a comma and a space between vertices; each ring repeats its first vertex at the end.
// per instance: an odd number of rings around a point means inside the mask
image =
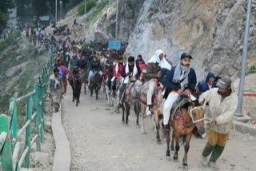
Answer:
POLYGON ((21 97, 38 82, 39 72, 48 54, 35 58, 37 47, 24 43, 18 31, 0 42, 0 113, 8 109, 10 97, 21 97))

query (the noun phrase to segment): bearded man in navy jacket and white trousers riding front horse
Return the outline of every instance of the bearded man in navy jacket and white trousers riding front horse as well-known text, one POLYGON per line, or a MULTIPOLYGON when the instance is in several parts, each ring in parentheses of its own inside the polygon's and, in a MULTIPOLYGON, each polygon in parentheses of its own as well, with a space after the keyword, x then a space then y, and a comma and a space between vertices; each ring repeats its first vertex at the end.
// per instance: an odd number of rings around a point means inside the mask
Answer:
POLYGON ((194 69, 190 67, 191 59, 192 57, 190 54, 183 53, 180 63, 173 67, 162 81, 162 83, 171 90, 163 106, 163 124, 167 131, 170 130, 170 125, 168 124, 170 109, 174 105, 174 102, 178 100, 178 94, 190 94, 191 100, 195 100, 195 97, 191 95, 191 92, 197 84, 197 77, 194 69))

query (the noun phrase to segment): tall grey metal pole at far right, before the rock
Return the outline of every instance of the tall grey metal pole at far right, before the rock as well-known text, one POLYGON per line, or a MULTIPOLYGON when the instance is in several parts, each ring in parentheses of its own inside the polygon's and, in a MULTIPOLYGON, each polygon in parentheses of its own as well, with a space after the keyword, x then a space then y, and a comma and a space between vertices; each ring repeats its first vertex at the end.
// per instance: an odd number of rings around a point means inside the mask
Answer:
POLYGON ((248 50, 248 37, 249 37, 249 31, 250 31, 251 2, 252 0, 247 1, 246 28, 245 28, 245 37, 243 40, 243 52, 242 52, 242 70, 241 70, 241 78, 240 78, 239 92, 238 92, 238 109, 236 114, 238 117, 242 117, 242 100, 243 100, 244 82, 246 77, 246 59, 247 59, 247 50, 248 50))

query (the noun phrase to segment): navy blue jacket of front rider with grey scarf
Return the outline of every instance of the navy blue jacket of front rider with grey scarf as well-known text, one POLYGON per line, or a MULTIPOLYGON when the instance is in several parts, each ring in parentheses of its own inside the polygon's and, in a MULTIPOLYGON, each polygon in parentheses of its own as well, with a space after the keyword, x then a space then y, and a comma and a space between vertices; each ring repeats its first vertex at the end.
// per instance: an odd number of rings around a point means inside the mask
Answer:
MULTIPOLYGON (((173 82, 175 68, 176 66, 173 67, 170 70, 170 72, 167 73, 166 78, 162 78, 162 83, 166 85, 168 89, 170 89, 171 91, 181 89, 180 83, 173 82)), ((190 89, 190 91, 192 92, 194 90, 195 85, 197 84, 197 76, 193 68, 190 68, 190 73, 188 77, 189 77, 189 82, 187 87, 185 87, 185 89, 190 89)))

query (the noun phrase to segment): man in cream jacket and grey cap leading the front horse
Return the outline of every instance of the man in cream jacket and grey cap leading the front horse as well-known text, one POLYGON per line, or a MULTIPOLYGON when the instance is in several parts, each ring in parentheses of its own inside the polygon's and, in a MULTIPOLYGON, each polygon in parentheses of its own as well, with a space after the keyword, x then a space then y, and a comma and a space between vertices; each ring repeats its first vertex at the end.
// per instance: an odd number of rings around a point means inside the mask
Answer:
POLYGON ((226 141, 229 138, 230 130, 234 124, 234 113, 238 106, 238 96, 231 89, 230 78, 221 78, 218 88, 210 89, 199 98, 199 101, 205 99, 205 122, 208 141, 202 151, 201 164, 210 169, 218 170, 216 161, 221 156, 226 141), (211 154, 211 156, 210 156, 211 154), (209 162, 207 157, 210 156, 209 162))

